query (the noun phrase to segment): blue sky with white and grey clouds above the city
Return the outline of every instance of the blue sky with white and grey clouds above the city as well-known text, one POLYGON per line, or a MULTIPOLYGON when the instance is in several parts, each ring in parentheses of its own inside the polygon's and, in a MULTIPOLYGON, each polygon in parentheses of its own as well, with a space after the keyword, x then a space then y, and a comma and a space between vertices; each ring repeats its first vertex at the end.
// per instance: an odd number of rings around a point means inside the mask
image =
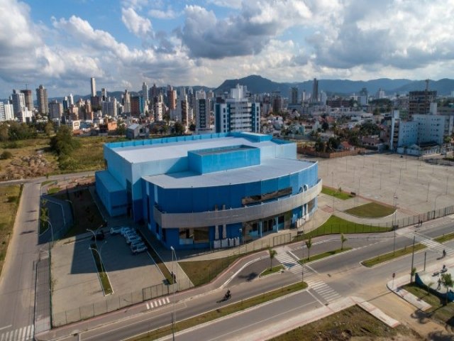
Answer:
POLYGON ((0 0, 0 98, 156 85, 454 78, 454 0, 0 0))

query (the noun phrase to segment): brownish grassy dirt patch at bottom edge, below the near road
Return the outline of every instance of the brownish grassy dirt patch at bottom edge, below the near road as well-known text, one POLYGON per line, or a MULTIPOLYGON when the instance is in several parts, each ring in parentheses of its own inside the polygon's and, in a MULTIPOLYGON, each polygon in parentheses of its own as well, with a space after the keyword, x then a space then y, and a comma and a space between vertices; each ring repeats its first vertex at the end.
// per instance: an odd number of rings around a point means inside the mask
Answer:
POLYGON ((358 305, 353 305, 339 313, 317 320, 309 325, 291 330, 283 335, 275 337, 273 341, 290 340, 398 340, 415 341, 424 340, 421 335, 404 325, 390 328, 388 325, 377 320, 374 316, 366 313, 358 305))

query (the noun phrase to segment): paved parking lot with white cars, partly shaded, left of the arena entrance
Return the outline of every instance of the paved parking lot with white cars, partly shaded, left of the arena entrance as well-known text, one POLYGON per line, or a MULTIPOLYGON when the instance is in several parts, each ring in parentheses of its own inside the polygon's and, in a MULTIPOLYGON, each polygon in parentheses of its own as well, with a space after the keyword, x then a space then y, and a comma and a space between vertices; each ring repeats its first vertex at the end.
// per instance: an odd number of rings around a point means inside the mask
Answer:
POLYGON ((148 252, 133 255, 121 234, 106 233, 97 244, 114 293, 105 297, 89 250, 92 243, 90 235, 83 234, 75 242, 62 239, 52 248, 54 325, 140 302, 143 288, 165 280, 148 252))

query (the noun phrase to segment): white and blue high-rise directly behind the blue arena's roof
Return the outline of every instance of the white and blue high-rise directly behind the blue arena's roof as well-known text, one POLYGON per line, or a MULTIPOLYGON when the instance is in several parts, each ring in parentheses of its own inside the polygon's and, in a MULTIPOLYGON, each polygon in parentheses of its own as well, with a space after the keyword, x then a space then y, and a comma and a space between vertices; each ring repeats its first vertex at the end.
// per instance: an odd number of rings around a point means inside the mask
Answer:
POLYGON ((215 105, 216 133, 231 131, 260 132, 260 103, 249 102, 244 88, 237 85, 231 89, 230 98, 225 103, 215 105))

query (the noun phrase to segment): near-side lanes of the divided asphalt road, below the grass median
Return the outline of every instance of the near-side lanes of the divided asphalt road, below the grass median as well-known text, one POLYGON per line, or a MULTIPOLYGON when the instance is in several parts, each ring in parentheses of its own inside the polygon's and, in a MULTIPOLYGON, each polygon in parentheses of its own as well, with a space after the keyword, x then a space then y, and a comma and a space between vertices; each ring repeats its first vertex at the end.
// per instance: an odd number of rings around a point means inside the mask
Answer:
MULTIPOLYGON (((444 246, 454 250, 454 242, 449 242, 444 246)), ((438 257, 436 252, 429 251, 429 253, 426 259, 427 264, 431 264, 438 257)), ((353 252, 351 254, 353 255, 353 252)), ((353 256, 355 257, 356 255, 353 256)), ((343 271, 342 281, 339 280, 339 277, 333 278, 331 276, 330 279, 330 277, 326 276, 326 283, 342 297, 360 296, 367 301, 371 301, 378 296, 389 293, 385 286, 387 281, 391 279, 390 271, 396 271, 398 274, 408 273, 411 263, 410 259, 411 255, 404 256, 390 263, 382 264, 382 266, 377 266, 373 271, 364 266, 353 266, 348 271, 343 271), (370 290, 370 288, 375 288, 375 290, 370 290), (358 295, 358 293, 360 294, 358 295)), ((320 269, 326 263, 330 262, 328 260, 320 261, 314 267, 320 269)), ((338 264, 338 261, 331 263, 338 264)), ((353 265, 355 262, 350 259, 349 263, 353 265)), ((423 252, 415 254, 414 265, 418 269, 422 268, 423 252)), ((279 323, 283 323, 289 316, 319 308, 323 305, 322 299, 319 293, 314 288, 311 288, 309 291, 287 296, 256 309, 246 310, 228 318, 177 332, 175 340, 250 340, 250 335, 258 331, 262 335, 266 335, 267 330, 272 333, 275 328, 279 327, 279 323)), ((160 340, 172 340, 172 335, 163 337, 160 340)))

